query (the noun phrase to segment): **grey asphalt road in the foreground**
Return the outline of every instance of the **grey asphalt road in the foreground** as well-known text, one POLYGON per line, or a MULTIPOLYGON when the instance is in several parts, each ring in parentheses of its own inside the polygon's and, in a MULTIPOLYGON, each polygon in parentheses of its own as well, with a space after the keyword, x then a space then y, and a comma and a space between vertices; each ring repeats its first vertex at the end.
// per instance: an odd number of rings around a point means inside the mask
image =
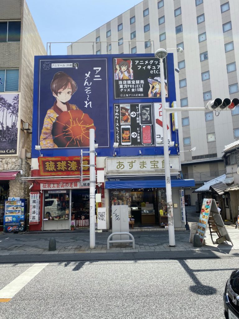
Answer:
MULTIPOLYGON (((4 319, 222 319, 223 291, 238 262, 239 257, 46 263, 11 301, 0 302, 0 313, 4 319)), ((2 288, 32 266, 0 264, 1 298, 2 288)))

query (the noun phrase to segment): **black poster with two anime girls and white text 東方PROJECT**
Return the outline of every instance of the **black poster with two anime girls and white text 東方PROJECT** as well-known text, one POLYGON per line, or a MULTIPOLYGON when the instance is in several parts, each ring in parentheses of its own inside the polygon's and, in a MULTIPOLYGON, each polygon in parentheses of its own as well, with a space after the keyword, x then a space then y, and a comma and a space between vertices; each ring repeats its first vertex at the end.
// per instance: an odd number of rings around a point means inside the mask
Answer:
POLYGON ((166 97, 168 97, 165 59, 163 59, 163 63, 165 79, 161 80, 160 60, 157 58, 114 58, 115 98, 161 97, 162 85, 164 85, 166 97))

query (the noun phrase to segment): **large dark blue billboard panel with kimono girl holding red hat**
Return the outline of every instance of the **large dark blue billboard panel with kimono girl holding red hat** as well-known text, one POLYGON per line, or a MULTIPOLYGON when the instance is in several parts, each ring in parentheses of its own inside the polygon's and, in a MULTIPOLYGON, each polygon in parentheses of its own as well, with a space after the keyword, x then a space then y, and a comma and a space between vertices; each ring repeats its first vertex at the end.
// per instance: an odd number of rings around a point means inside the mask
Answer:
POLYGON ((106 59, 40 61, 39 145, 89 147, 90 129, 99 147, 109 146, 106 59))

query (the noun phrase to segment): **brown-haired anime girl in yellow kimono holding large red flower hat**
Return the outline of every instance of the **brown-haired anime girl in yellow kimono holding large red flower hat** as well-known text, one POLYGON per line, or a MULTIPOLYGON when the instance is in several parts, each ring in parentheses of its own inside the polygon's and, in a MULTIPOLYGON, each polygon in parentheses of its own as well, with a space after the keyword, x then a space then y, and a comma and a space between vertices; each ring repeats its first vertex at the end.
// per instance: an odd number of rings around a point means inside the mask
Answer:
POLYGON ((77 90, 76 82, 66 73, 57 72, 51 81, 56 98, 47 110, 40 135, 42 148, 89 146, 89 130, 93 120, 69 100, 77 90))

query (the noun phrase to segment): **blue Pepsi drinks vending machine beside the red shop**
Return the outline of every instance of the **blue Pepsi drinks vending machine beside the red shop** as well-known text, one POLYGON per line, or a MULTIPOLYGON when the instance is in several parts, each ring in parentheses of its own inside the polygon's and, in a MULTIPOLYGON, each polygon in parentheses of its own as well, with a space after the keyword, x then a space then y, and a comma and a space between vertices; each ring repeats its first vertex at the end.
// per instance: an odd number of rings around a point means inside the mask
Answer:
POLYGON ((4 232, 24 232, 26 216, 26 199, 8 197, 4 207, 4 232))

